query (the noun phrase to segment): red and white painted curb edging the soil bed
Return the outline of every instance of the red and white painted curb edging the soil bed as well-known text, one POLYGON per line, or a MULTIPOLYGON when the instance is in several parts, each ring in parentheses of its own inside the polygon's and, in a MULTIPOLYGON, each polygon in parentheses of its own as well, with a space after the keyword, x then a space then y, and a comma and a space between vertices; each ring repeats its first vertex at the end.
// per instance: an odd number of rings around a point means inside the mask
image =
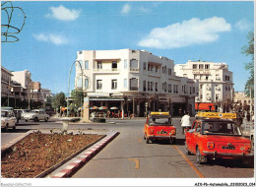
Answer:
POLYGON ((108 143, 110 143, 119 133, 114 132, 110 135, 107 135, 99 142, 96 143, 92 148, 83 152, 80 156, 74 157, 74 160, 69 163, 64 169, 58 173, 47 176, 46 178, 65 178, 70 177, 75 173, 79 168, 86 164, 90 159, 92 159, 96 154, 101 151, 108 143))

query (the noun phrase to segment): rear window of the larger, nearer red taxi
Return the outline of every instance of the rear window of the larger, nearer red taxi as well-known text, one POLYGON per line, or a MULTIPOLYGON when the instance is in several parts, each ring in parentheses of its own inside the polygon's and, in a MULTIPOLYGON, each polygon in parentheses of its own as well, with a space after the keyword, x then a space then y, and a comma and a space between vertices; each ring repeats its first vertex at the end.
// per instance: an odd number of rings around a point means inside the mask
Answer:
POLYGON ((203 134, 207 135, 230 135, 240 136, 241 132, 235 123, 228 122, 205 122, 203 123, 203 134))

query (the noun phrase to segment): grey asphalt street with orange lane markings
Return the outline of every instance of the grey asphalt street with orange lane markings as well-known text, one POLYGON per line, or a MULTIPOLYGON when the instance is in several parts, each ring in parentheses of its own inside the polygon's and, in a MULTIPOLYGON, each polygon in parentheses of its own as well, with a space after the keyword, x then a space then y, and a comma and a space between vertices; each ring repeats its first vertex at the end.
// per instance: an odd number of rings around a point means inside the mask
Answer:
MULTIPOLYGON (((109 119, 102 124, 70 124, 69 129, 118 131, 120 134, 73 178, 248 178, 253 177, 253 164, 243 168, 236 160, 217 160, 198 164, 196 156, 185 155, 185 136, 181 134, 180 118, 173 118, 177 128, 176 145, 165 142, 146 144, 143 140, 145 118, 132 120, 109 119), (115 123, 108 123, 115 122, 115 123)), ((22 133, 37 129, 57 129, 62 124, 20 121, 16 130, 2 132, 2 146, 22 133)))

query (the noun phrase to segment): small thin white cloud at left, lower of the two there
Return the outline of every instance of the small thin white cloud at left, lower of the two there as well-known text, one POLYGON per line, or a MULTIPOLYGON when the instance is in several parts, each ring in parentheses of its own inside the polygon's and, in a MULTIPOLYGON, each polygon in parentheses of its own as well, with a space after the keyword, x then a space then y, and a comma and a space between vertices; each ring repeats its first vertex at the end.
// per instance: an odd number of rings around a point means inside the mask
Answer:
POLYGON ((64 44, 64 43, 67 43, 68 41, 64 36, 56 35, 53 33, 50 33, 48 35, 44 33, 39 33, 39 34, 32 34, 32 36, 38 41, 51 42, 56 45, 64 44))

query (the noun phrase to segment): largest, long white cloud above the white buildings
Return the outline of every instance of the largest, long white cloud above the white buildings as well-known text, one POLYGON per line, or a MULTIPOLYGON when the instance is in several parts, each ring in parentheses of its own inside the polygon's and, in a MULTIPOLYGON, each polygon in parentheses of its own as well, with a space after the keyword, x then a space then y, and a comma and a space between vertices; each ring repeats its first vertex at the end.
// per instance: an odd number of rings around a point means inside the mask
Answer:
POLYGON ((219 32, 230 30, 231 26, 224 18, 213 17, 202 21, 192 18, 165 28, 155 28, 138 45, 160 49, 178 48, 213 42, 219 38, 219 32))

